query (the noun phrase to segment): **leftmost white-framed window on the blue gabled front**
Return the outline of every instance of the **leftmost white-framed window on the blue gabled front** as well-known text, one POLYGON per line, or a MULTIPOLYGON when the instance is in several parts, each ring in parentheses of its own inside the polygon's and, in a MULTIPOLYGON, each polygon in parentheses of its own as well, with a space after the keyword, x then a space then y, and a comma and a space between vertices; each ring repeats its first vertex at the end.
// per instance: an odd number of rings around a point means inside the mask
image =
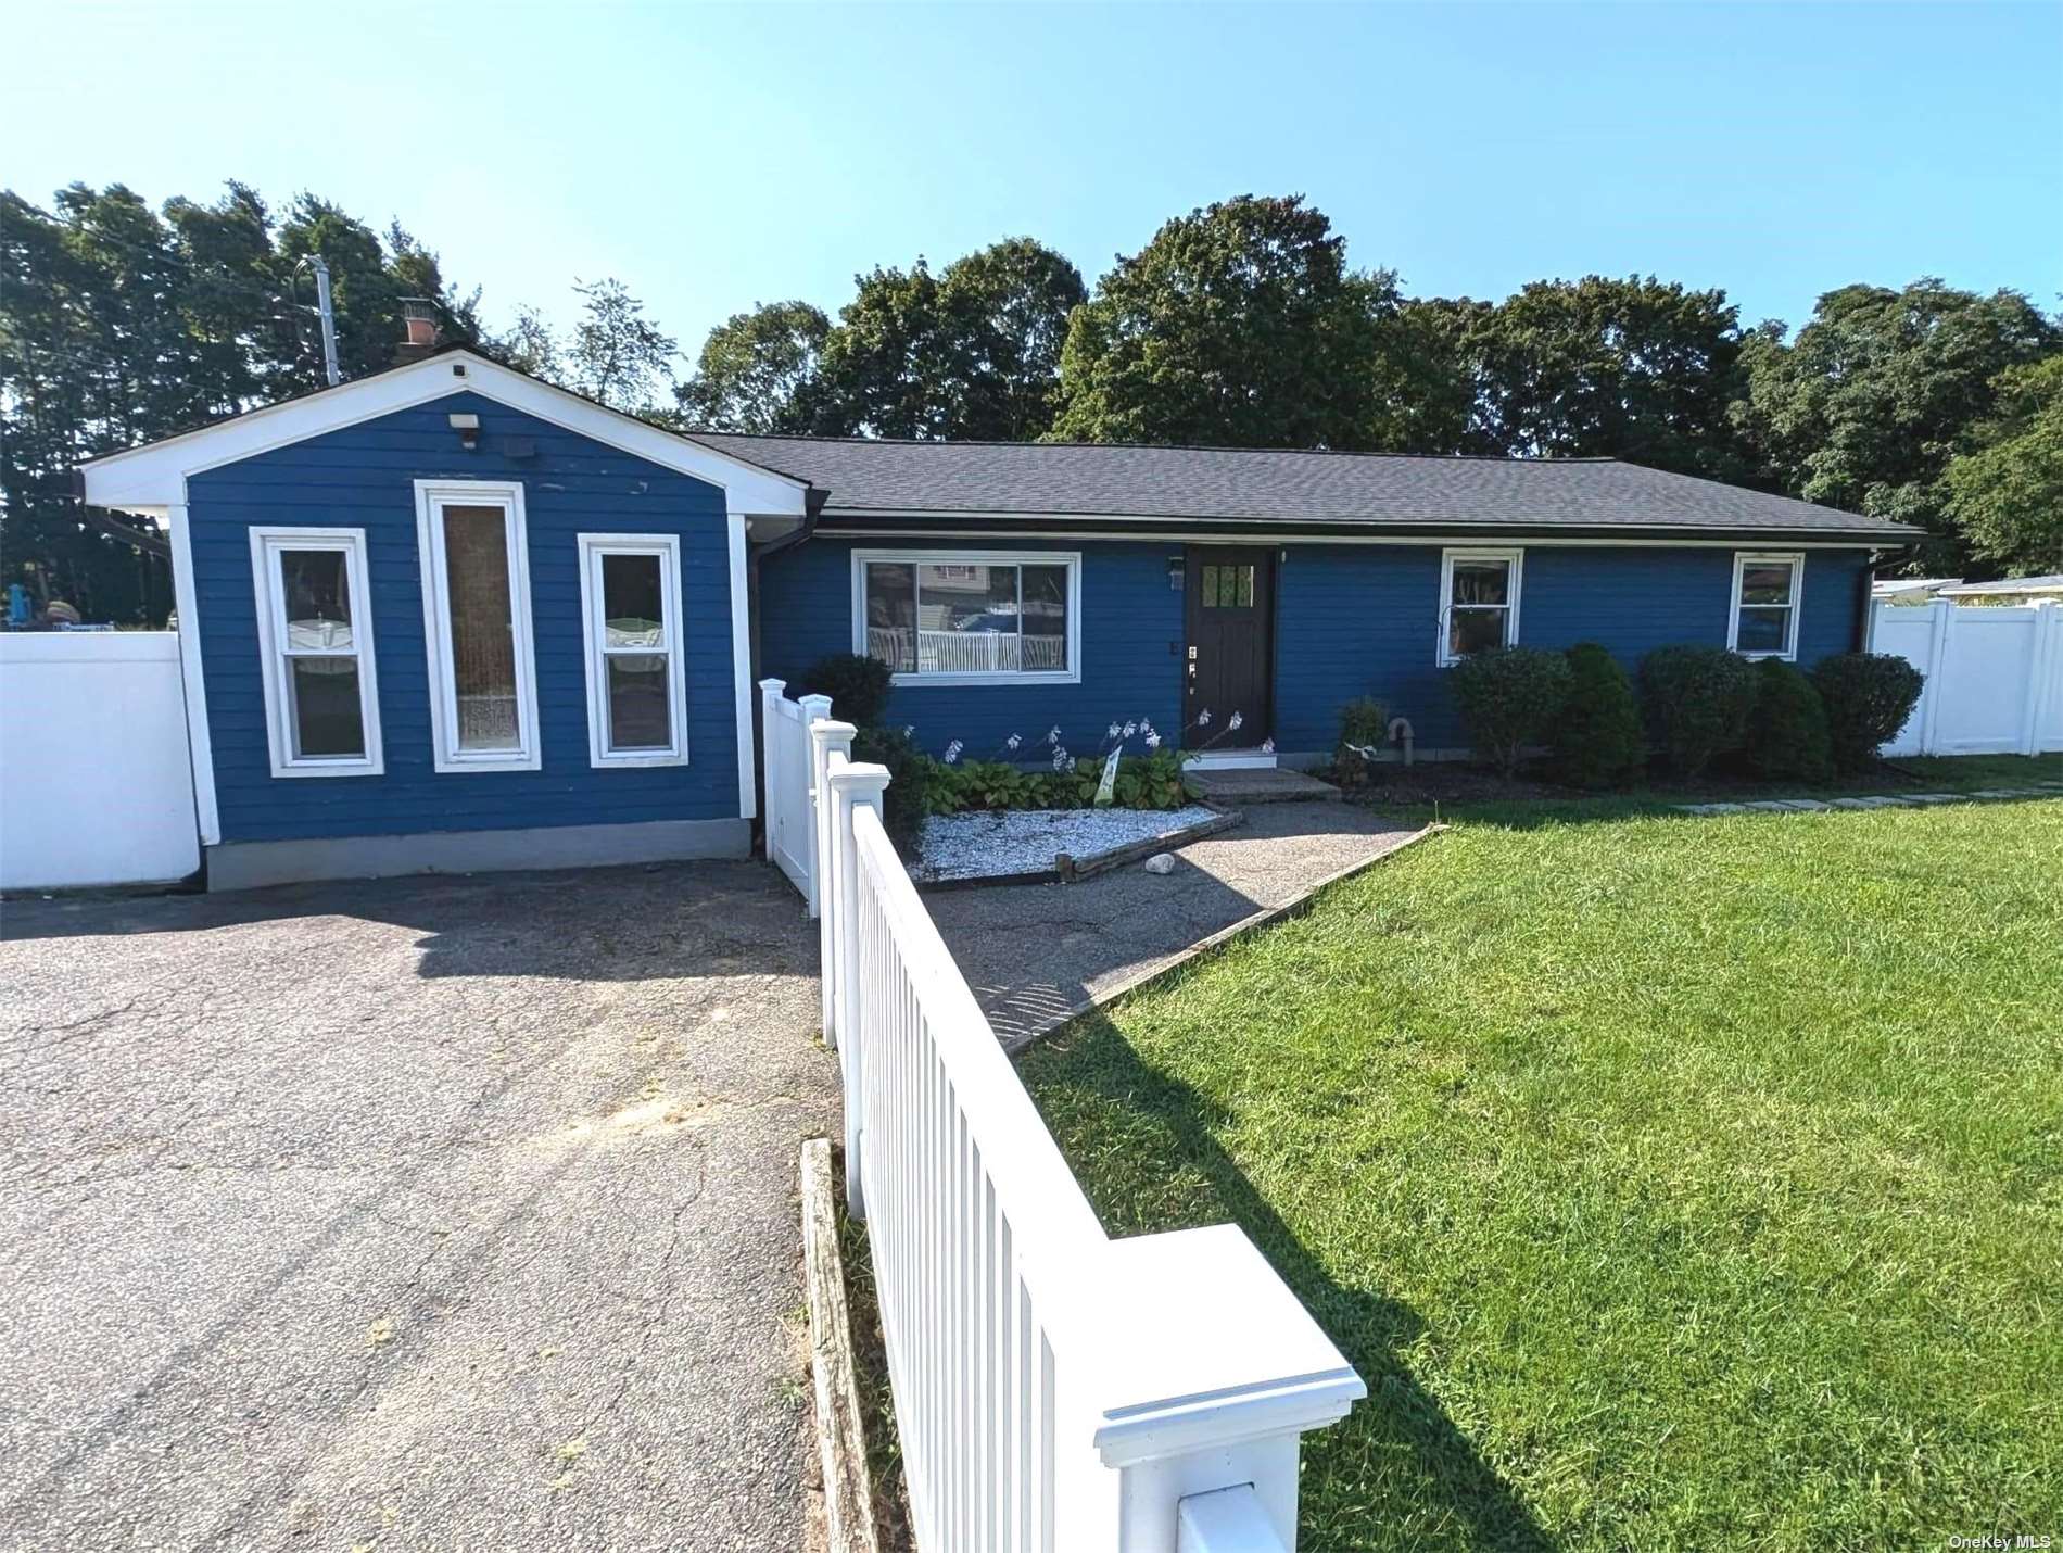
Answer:
POLYGON ((363 528, 252 528, 272 775, 380 775, 363 528))

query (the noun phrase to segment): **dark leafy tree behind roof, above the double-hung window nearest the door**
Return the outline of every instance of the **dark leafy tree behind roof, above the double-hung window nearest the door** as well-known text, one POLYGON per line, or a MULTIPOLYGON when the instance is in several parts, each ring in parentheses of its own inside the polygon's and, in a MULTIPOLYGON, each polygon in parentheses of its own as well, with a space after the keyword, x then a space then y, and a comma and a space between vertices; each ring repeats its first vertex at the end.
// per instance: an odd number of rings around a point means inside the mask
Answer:
POLYGON ((1553 458, 1735 478, 1745 468, 1729 408, 1741 330, 1725 291, 1655 276, 1533 280, 1477 313, 1463 336, 1483 441, 1553 458))

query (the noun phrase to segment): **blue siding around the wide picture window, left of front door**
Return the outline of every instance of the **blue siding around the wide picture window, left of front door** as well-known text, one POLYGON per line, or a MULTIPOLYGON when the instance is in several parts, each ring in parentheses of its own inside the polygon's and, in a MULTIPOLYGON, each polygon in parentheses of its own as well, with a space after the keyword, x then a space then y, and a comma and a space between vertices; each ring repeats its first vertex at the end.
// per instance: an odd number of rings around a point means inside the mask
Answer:
MULTIPOLYGON (((769 557, 759 573, 759 658, 765 674, 790 683, 833 652, 852 652, 852 551, 889 551, 895 542, 813 538, 769 557)), ((951 540, 932 547, 953 549, 951 540)), ((978 551, 1081 551, 1079 685, 899 685, 889 722, 916 728, 918 745, 939 753, 959 738, 970 759, 996 755, 1023 734, 1019 759, 1036 759, 1046 732, 1075 755, 1104 747, 1112 722, 1147 718, 1170 734, 1180 728, 1182 594, 1168 586, 1180 544, 1071 544, 970 540, 978 551)), ((1133 742, 1141 751, 1141 742, 1133 742)))

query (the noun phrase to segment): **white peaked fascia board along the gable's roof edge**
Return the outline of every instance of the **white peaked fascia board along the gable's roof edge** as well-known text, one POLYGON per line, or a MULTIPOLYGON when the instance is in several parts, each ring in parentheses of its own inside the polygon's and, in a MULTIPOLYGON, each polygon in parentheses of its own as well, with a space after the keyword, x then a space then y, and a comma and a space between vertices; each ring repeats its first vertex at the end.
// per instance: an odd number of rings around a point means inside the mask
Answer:
POLYGON ((567 394, 563 388, 501 367, 470 351, 448 351, 427 361, 252 410, 200 431, 95 458, 80 466, 87 483, 85 495, 95 507, 163 509, 186 499, 186 478, 192 474, 468 392, 635 454, 660 468, 718 485, 724 491, 724 507, 732 514, 800 518, 805 511, 803 497, 809 487, 794 476, 776 474, 699 441, 660 431, 635 417, 567 394))

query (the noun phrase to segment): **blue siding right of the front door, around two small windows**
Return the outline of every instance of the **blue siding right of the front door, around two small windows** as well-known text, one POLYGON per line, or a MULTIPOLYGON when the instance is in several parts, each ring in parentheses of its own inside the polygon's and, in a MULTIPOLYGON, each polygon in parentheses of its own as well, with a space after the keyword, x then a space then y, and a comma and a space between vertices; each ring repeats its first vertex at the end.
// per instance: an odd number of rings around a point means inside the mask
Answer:
MULTIPOLYGON (((1599 641, 1628 672, 1669 643, 1723 648, 1733 555, 1723 547, 1527 547, 1518 641, 1599 641)), ((1867 559, 1867 551, 1805 553, 1801 666, 1855 646, 1857 580, 1867 559)), ((1294 547, 1281 567, 1277 619, 1275 742, 1283 751, 1331 751, 1339 707, 1353 695, 1374 695, 1390 716, 1411 718, 1421 749, 1467 742, 1446 674, 1434 666, 1440 547, 1294 547)))

